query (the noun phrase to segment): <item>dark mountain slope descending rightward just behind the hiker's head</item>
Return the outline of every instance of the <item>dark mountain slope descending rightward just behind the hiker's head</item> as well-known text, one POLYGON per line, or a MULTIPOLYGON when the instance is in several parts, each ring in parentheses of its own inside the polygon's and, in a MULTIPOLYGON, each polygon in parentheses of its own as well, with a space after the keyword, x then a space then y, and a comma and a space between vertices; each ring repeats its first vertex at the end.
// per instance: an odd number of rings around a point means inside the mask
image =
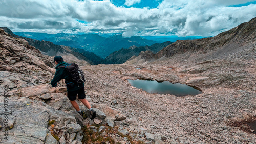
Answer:
POLYGON ((79 64, 86 64, 86 63, 98 64, 98 61, 101 61, 101 58, 95 55, 94 53, 84 52, 83 54, 80 54, 77 50, 68 46, 65 47, 65 46, 56 45, 50 41, 45 41, 45 40, 40 41, 40 40, 35 40, 27 37, 21 37, 13 34, 12 31, 7 27, 1 27, 1 28, 15 38, 25 39, 26 41, 29 42, 30 45, 36 47, 36 49, 39 49, 43 54, 46 54, 49 56, 61 55, 63 56, 63 58, 70 60, 70 62, 76 62, 79 64))

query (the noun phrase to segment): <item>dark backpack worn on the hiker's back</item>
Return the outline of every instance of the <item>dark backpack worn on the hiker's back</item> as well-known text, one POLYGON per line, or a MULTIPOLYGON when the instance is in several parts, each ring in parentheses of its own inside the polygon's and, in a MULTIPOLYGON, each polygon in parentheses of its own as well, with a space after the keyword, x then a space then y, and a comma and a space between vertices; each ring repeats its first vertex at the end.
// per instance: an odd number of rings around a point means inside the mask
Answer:
POLYGON ((77 83, 84 83, 86 79, 84 78, 82 70, 79 70, 79 67, 75 63, 71 63, 68 65, 60 65, 57 68, 64 68, 68 71, 72 79, 77 83))

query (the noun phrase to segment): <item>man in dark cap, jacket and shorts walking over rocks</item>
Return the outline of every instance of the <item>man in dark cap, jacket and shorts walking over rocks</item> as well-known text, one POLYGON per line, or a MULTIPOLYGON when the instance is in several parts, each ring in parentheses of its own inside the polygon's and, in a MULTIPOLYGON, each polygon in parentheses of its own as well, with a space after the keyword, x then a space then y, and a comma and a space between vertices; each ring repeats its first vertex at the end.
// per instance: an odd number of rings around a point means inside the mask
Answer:
MULTIPOLYGON (((57 86, 57 82, 59 82, 62 79, 65 79, 65 83, 67 86, 68 91, 68 98, 72 104, 72 106, 76 109, 76 112, 78 112, 83 117, 83 111, 80 110, 78 104, 76 103, 76 95, 78 95, 78 99, 90 110, 90 116, 91 120, 96 117, 96 111, 94 111, 89 104, 89 102, 86 100, 86 94, 84 93, 84 83, 77 83, 72 79, 72 75, 69 74, 69 72, 65 68, 58 68, 59 66, 67 66, 68 63, 63 61, 63 58, 61 56, 55 56, 54 57, 54 63, 57 65, 56 72, 54 75, 53 80, 51 81, 52 87, 57 86)), ((62 66, 62 67, 63 67, 62 66)))

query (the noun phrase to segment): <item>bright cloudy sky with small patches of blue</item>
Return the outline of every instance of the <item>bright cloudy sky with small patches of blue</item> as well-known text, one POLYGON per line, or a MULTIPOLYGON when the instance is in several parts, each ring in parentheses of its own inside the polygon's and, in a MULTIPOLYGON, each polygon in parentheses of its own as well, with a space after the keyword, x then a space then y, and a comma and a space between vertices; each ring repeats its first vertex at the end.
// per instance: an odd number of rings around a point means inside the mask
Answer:
POLYGON ((249 0, 0 0, 14 32, 215 36, 254 17, 249 0))

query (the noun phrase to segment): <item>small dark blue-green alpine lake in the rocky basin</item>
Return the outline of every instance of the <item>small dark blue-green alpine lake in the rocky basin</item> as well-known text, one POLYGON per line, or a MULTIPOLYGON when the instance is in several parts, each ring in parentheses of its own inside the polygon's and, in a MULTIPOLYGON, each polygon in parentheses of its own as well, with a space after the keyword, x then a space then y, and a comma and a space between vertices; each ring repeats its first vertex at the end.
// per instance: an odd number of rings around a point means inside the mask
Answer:
POLYGON ((180 83, 170 83, 168 81, 158 82, 153 80, 130 80, 128 82, 139 89, 142 89, 148 93, 158 93, 158 94, 172 94, 175 96, 186 96, 186 95, 198 95, 202 92, 191 86, 180 84, 180 83))

